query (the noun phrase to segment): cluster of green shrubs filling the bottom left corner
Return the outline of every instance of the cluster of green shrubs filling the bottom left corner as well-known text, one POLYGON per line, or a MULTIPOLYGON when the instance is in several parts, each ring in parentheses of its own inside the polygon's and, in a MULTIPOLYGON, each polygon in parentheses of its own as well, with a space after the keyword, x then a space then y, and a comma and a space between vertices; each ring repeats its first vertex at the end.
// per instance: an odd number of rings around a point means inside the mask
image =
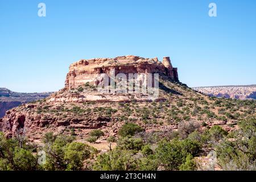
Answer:
POLYGON ((84 169, 84 160, 93 158, 97 150, 74 139, 47 133, 43 137, 44 147, 27 144, 26 140, 21 147, 17 138, 6 139, 0 133, 0 171, 84 169))

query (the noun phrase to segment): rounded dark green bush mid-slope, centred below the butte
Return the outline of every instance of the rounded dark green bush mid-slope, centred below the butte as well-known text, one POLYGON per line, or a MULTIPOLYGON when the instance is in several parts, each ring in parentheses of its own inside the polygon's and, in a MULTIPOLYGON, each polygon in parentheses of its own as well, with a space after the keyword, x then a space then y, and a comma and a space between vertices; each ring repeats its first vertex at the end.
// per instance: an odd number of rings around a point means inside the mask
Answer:
POLYGON ((133 136, 136 133, 142 132, 143 129, 141 126, 136 125, 135 123, 130 123, 126 122, 125 125, 121 127, 121 129, 118 131, 118 134, 121 137, 126 137, 126 136, 133 136))

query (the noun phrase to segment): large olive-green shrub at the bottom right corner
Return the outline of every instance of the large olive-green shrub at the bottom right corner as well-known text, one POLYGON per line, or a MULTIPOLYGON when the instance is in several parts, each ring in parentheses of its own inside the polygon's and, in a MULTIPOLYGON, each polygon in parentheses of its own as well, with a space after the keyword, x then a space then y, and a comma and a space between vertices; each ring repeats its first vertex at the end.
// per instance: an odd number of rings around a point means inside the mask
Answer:
POLYGON ((255 170, 256 119, 247 118, 238 123, 240 129, 223 140, 216 149, 220 166, 226 170, 255 170))

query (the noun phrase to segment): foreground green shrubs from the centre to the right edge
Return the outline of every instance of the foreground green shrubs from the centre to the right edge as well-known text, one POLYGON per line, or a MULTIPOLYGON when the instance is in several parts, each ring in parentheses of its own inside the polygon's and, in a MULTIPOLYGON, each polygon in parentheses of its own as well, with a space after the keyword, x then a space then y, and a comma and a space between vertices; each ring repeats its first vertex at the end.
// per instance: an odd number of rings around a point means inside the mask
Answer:
MULTIPOLYGON (((216 153, 216 166, 224 170, 255 170, 256 119, 240 122, 240 129, 227 133, 220 126, 190 133, 171 134, 173 138, 160 138, 152 133, 120 136, 117 147, 98 155, 95 170, 196 170, 198 159, 209 151, 216 153), (147 138, 158 138, 159 142, 147 142, 147 138)), ((184 129, 185 130, 185 129, 184 129)), ((167 136, 167 135, 166 135, 167 136)), ((169 135, 170 136, 170 135, 169 135)), ((204 168, 212 169, 212 168, 204 168)))

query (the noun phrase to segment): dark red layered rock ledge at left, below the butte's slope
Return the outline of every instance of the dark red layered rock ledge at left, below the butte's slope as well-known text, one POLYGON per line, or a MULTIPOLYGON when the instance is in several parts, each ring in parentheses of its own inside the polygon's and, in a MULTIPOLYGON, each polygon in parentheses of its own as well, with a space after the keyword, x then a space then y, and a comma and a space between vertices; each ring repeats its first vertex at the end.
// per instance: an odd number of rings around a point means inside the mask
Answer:
MULTIPOLYGON (((72 107, 69 104, 66 106, 72 107)), ((14 108, 7 111, 5 117, 0 119, 0 131, 3 131, 7 138, 14 137, 21 131, 28 138, 34 140, 41 138, 44 133, 50 131, 59 134, 67 128, 98 129, 112 121, 110 117, 87 112, 77 115, 72 111, 67 111, 65 114, 56 115, 51 110, 60 111, 61 106, 56 106, 54 102, 51 102, 50 105, 47 102, 24 104, 22 107, 20 110, 14 108), (44 111, 39 113, 39 110, 42 109, 44 111)))

